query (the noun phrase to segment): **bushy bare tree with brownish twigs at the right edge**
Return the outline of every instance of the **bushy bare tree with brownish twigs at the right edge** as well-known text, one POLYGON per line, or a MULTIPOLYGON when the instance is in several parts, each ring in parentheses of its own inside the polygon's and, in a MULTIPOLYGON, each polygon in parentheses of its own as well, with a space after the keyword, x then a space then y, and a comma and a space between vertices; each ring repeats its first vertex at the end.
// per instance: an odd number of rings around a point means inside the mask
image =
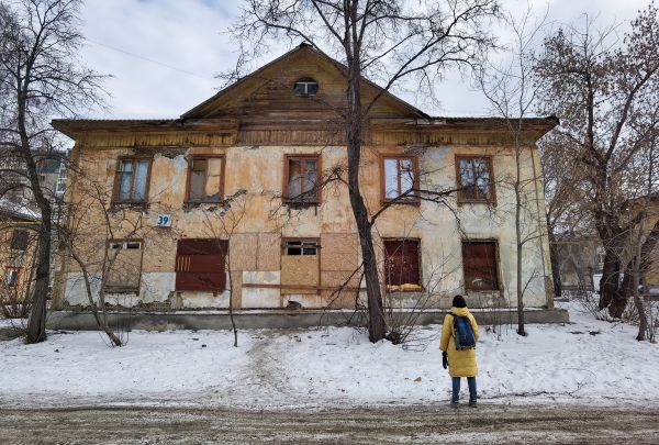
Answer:
POLYGON ((622 253, 641 220, 626 215, 647 178, 629 166, 658 127, 637 119, 659 86, 657 8, 640 11, 622 38, 615 32, 596 30, 588 16, 581 29, 559 30, 545 40, 536 74, 543 109, 561 118, 560 132, 573 147, 570 162, 588 186, 583 197, 605 249, 600 308, 621 316, 627 302, 622 253))

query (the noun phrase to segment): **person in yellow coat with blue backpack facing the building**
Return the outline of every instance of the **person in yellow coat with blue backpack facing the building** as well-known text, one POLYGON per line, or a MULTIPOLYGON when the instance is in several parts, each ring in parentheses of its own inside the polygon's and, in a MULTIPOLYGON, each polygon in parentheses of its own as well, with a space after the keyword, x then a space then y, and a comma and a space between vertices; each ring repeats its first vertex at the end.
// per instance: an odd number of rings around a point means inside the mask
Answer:
POLYGON ((450 312, 444 318, 442 325, 442 349, 443 366, 453 379, 453 397, 450 404, 458 407, 460 398, 460 378, 467 377, 469 386, 469 407, 476 407, 476 341, 478 341, 478 324, 473 319, 467 301, 462 296, 455 296, 450 312))

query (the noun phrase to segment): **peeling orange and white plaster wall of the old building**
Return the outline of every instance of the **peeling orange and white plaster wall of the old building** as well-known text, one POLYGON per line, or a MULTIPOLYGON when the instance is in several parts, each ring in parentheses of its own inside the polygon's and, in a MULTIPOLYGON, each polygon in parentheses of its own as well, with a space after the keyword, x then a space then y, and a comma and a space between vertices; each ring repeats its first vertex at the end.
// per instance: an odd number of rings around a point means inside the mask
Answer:
MULTIPOLYGON (((354 267, 360 263, 359 244, 354 226, 347 189, 336 185, 323 191, 322 203, 317 208, 289 210, 281 205, 284 154, 319 153, 324 170, 346 162, 345 147, 336 146, 208 146, 182 147, 185 154, 164 156, 154 151, 149 186, 149 204, 145 211, 129 212, 136 221, 142 215, 144 240, 143 286, 139 296, 131 301, 133 305, 150 302, 169 302, 174 308, 226 308, 230 290, 219 296, 212 292, 175 292, 176 241, 182 237, 230 238, 231 277, 234 286, 235 308, 280 308, 289 300, 300 301, 303 307, 349 308, 355 302, 355 291, 344 291, 332 299, 327 288, 343 283, 354 267), (245 212, 241 224, 230 236, 223 233, 219 224, 221 209, 217 204, 201 204, 183 210, 186 196, 188 159, 194 154, 225 156, 224 196, 233 196, 241 189, 247 190, 245 212), (159 213, 172 216, 168 229, 156 227, 159 213), (281 283, 281 238, 314 237, 321 240, 319 294, 283 296, 276 288, 281 283), (270 285, 268 288, 250 288, 244 285, 270 285)), ((525 151, 523 171, 526 179, 532 178, 533 159, 525 151)), ((80 151, 86 171, 104 182, 112 190, 116 157, 134 153, 131 148, 115 147, 80 151)), ((381 204, 380 164, 378 154, 400 154, 396 146, 366 147, 360 183, 367 207, 371 212, 381 204)), ((514 194, 510 186, 514 174, 514 154, 512 148, 488 146, 435 146, 418 149, 422 171, 433 171, 422 177, 424 188, 454 188, 456 183, 456 154, 487 154, 493 156, 493 170, 496 181, 496 205, 457 204, 449 198, 446 205, 422 202, 420 205, 395 205, 388 209, 376 225, 376 243, 380 262, 383 260, 381 237, 417 237, 422 246, 422 282, 433 288, 438 296, 434 305, 447 307, 457 292, 463 291, 461 264, 461 238, 496 240, 500 256, 500 293, 472 294, 471 305, 513 305, 515 300, 515 232, 514 194), (456 215, 459 219, 456 220, 456 215)), ((537 185, 537 182, 536 182, 537 185)), ((537 231, 538 207, 533 185, 526 190, 528 205, 524 209, 524 224, 528 232, 537 231)), ((81 193, 81 192, 80 192, 81 193)), ((79 194, 80 194, 79 193, 79 194)), ((81 196, 81 194, 80 194, 81 196)), ((541 189, 540 189, 541 198, 541 189)), ((100 214, 100 213, 99 213, 100 214)), ((92 216, 90 221, 93 221, 92 216)), ((126 233, 130 224, 118 223, 115 236, 126 233)), ((104 245, 101 231, 89 233, 89 243, 104 245)), ((525 275, 523 281, 529 281, 525 296, 528 307, 547 304, 545 277, 548 269, 548 253, 544 249, 545 237, 530 241, 524 249, 525 275)), ((94 249, 90 249, 93 252, 94 249)), ((93 270, 90 269, 90 270, 93 270)), ((98 270, 98 269, 97 269, 98 270)), ((69 304, 86 304, 87 297, 76 279, 76 267, 71 263, 65 266, 65 298, 69 304)), ((79 274, 78 274, 79 275, 79 274)), ((227 279, 228 283, 228 279, 227 279)), ((359 286, 358 277, 348 282, 349 287, 359 286)), ((362 283, 364 286, 364 283, 362 283)), ((116 301, 120 299, 118 298, 116 301)), ((413 297, 405 296, 403 305, 410 305, 413 297)))

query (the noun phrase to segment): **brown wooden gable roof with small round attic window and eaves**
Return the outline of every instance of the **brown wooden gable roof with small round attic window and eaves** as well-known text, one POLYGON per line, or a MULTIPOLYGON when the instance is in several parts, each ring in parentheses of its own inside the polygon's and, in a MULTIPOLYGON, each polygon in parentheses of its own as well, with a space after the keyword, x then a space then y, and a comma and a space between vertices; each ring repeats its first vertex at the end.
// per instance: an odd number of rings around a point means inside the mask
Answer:
MULTIPOLYGON (((179 119, 56 119, 52 121, 52 125, 76 141, 91 134, 194 132, 208 136, 219 133, 237 134, 249 129, 258 131, 263 127, 291 130, 295 126, 309 130, 316 129, 320 123, 327 127, 339 127, 340 123, 336 120, 339 114, 336 112, 345 105, 346 75, 345 65, 303 43, 222 89, 181 114, 179 119), (293 84, 302 77, 312 76, 317 76, 320 85, 319 93, 313 100, 294 94, 293 84)), ((448 131, 463 134, 501 132, 506 127, 500 118, 431 116, 375 82, 366 78, 361 81, 365 103, 379 96, 370 110, 369 123, 386 132, 413 132, 418 136, 417 133, 448 131)), ((557 124, 558 120, 555 116, 524 118, 523 131, 537 141, 557 124)), ((201 140, 208 143, 208 137, 204 137, 201 140)), ((221 140, 222 143, 226 143, 231 137, 221 140)), ((409 137, 405 138, 407 140, 409 137)), ((136 144, 135 141, 135 137, 129 137, 121 138, 120 142, 136 144)))

